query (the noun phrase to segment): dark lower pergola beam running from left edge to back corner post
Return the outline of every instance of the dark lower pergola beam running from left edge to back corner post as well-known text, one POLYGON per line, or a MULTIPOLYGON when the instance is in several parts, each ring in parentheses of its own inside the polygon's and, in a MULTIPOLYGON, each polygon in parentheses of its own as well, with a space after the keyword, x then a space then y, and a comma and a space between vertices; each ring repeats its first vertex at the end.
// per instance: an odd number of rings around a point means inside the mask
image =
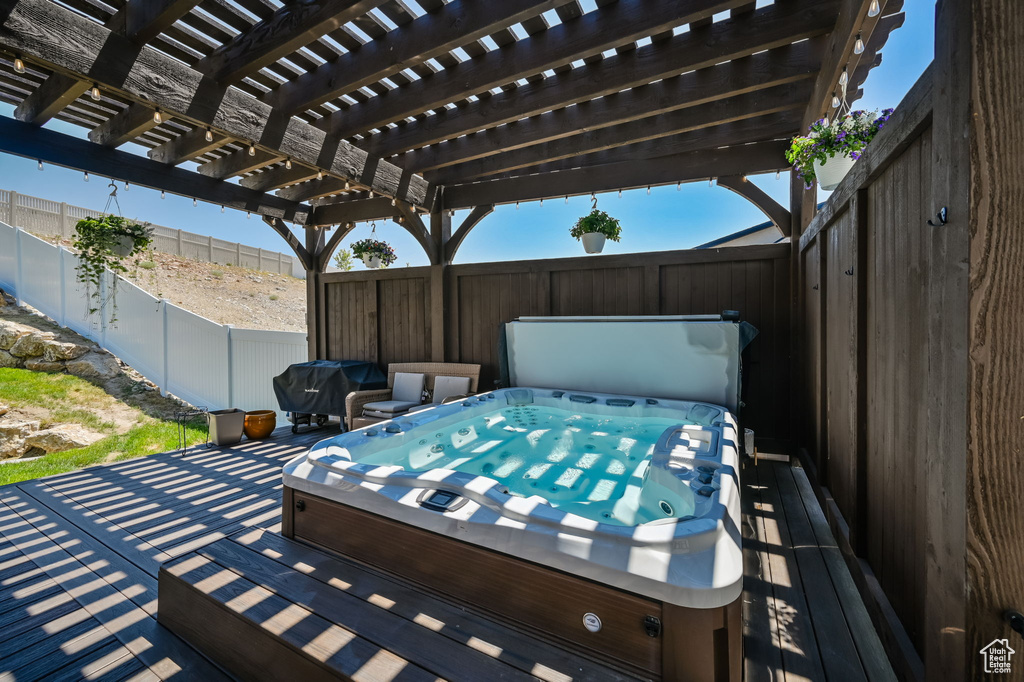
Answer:
POLYGON ((183 168, 168 167, 136 154, 100 146, 6 117, 0 117, 0 152, 300 223, 305 222, 309 213, 309 207, 273 195, 214 180, 183 168))

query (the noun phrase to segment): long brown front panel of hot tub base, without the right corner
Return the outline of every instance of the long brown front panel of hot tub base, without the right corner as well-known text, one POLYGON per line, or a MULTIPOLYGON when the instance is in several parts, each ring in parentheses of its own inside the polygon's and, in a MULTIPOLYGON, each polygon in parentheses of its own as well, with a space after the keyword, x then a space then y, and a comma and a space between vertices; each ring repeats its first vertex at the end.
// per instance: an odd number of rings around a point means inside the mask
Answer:
POLYGON ((370 563, 451 599, 543 631, 588 655, 623 662, 658 675, 662 640, 648 637, 645 615, 662 604, 580 578, 396 523, 296 491, 295 538, 370 563), (345 527, 344 534, 335 528, 345 527), (389 539, 381 543, 380 538, 389 539), (453 570, 459 566, 459 570, 453 570), (590 633, 583 614, 601 613, 590 633))

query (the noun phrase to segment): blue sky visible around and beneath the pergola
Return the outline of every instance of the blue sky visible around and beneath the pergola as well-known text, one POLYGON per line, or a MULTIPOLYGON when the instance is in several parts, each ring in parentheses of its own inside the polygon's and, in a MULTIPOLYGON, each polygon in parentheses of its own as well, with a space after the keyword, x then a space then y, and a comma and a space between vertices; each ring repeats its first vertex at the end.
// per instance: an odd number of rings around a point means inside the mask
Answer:
MULTIPOLYGON (((583 4, 589 10, 593 0, 583 4)), ((905 0, 903 11, 906 22, 883 49, 882 65, 868 76, 864 97, 855 104, 858 109, 895 106, 932 59, 935 0, 905 0)), ((0 103, 0 116, 12 115, 12 106, 0 103)), ((85 136, 83 128, 58 121, 47 127, 85 136)), ((143 153, 131 144, 121 148, 143 153)), ((780 179, 774 173, 751 179, 776 201, 787 203, 785 173, 780 179)), ((109 193, 106 182, 96 176, 85 182, 81 173, 51 166, 39 172, 34 160, 0 154, 0 188, 101 209, 109 193)), ((202 202, 194 208, 191 199, 167 195, 161 200, 160 193, 135 186, 119 193, 119 199, 125 215, 139 220, 288 252, 281 238, 255 216, 247 219, 244 213, 230 209, 221 213, 219 206, 202 202)), ((600 194, 598 207, 618 218, 623 225, 622 242, 605 246, 604 253, 611 254, 686 249, 765 220, 745 200, 707 182, 684 184, 678 190, 675 185, 652 187, 650 195, 645 189, 624 191, 621 198, 617 193, 600 194)), ((585 257, 568 229, 589 210, 589 197, 570 197, 567 204, 563 200, 549 200, 543 206, 539 202, 523 203, 518 210, 514 205, 500 206, 466 239, 456 262, 585 257)), ((457 212, 453 224, 457 226, 467 214, 457 212)), ((370 230, 370 225, 360 223, 343 246, 367 237, 370 230)), ((379 222, 377 236, 394 247, 398 255, 395 266, 427 264, 419 245, 398 225, 379 222)))

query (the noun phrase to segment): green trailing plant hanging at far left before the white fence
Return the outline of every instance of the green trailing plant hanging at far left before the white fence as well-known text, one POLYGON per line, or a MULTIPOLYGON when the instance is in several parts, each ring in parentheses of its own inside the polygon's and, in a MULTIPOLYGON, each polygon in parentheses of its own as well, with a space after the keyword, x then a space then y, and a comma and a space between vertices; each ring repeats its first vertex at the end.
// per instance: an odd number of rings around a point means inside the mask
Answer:
POLYGON ((138 223, 118 215, 82 218, 75 225, 72 246, 78 251, 77 275, 85 286, 91 301, 89 314, 99 310, 105 300, 113 304, 110 322, 117 322, 118 275, 126 274, 125 259, 143 253, 153 243, 153 228, 148 223, 138 223), (110 270, 111 291, 104 300, 101 283, 110 270))

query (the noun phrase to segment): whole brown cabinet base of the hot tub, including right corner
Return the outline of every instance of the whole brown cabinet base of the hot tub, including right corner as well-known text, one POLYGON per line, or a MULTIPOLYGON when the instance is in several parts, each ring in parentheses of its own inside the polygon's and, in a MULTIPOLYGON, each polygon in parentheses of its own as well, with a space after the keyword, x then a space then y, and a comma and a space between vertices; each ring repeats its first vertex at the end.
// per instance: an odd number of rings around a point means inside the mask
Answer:
MULTIPOLYGON (((282 532, 641 678, 738 682, 740 600, 687 608, 284 488, 282 532), (591 632, 600 621, 600 629, 591 632)), ((595 628, 596 629, 596 628, 595 628)))

